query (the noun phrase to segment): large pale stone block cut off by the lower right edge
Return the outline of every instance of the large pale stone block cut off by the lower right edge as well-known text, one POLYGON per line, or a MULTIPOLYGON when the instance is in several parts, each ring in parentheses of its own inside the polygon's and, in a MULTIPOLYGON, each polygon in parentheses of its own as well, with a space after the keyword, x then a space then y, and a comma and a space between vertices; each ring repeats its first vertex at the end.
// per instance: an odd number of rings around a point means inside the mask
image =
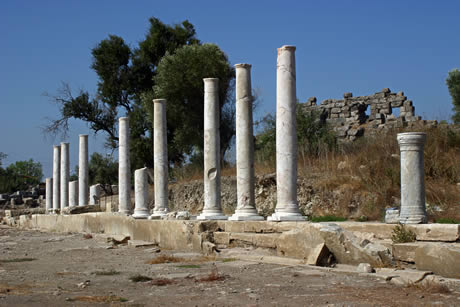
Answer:
POLYGON ((415 266, 444 277, 460 278, 460 244, 425 244, 415 250, 415 266))

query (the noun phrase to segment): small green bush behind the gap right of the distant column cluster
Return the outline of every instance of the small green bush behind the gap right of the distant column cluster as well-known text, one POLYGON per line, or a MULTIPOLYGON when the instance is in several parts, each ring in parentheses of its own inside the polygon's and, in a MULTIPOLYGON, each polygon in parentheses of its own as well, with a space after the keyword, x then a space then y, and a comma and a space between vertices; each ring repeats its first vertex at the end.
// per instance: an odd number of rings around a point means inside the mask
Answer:
MULTIPOLYGON (((103 156, 100 153, 93 153, 89 160, 89 183, 102 184, 102 188, 111 186, 118 182, 118 162, 112 156, 103 156)), ((106 191, 107 192, 107 191, 106 191)))

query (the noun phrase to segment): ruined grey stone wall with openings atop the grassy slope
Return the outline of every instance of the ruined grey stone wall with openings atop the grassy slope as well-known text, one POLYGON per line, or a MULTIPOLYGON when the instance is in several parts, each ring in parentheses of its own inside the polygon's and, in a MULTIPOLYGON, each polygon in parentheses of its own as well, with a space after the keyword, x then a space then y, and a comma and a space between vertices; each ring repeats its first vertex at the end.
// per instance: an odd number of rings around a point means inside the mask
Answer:
POLYGON ((407 100, 403 92, 392 93, 389 88, 369 96, 353 97, 345 93, 344 99, 326 99, 320 105, 316 97, 303 104, 309 111, 319 111, 321 118, 329 123, 342 140, 353 141, 366 134, 381 130, 410 127, 414 124, 436 125, 436 121, 422 121, 415 115, 412 100, 407 100), (399 110, 399 115, 393 111, 399 110))

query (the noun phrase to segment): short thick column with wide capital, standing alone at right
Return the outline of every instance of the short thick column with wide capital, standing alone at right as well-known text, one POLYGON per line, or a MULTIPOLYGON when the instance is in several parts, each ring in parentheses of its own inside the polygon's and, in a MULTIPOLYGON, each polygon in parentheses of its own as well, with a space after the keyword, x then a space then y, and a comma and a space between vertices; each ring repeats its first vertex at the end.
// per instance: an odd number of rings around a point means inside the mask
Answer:
POLYGON ((401 224, 427 222, 423 149, 426 133, 398 133, 401 150, 401 224))

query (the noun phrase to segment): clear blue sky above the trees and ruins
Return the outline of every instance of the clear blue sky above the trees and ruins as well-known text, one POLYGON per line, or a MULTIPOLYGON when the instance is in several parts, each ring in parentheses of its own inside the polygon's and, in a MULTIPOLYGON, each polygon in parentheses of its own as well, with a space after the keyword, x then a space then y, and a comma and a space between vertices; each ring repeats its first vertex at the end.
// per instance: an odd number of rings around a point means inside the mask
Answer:
MULTIPOLYGON (((57 107, 42 96, 61 81, 94 92, 91 48, 109 34, 131 46, 143 39, 149 17, 188 19, 203 42, 216 43, 232 64, 253 65, 262 103, 258 118, 275 110, 276 48, 297 46, 297 96, 342 98, 389 87, 404 91, 425 119, 447 119, 452 104, 445 79, 460 66, 460 1, 1 1, 0 152, 6 165, 33 158, 51 175, 52 145, 40 130, 57 107)), ((71 124, 71 169, 78 134, 71 124)), ((104 136, 90 152, 105 152, 104 136)))

